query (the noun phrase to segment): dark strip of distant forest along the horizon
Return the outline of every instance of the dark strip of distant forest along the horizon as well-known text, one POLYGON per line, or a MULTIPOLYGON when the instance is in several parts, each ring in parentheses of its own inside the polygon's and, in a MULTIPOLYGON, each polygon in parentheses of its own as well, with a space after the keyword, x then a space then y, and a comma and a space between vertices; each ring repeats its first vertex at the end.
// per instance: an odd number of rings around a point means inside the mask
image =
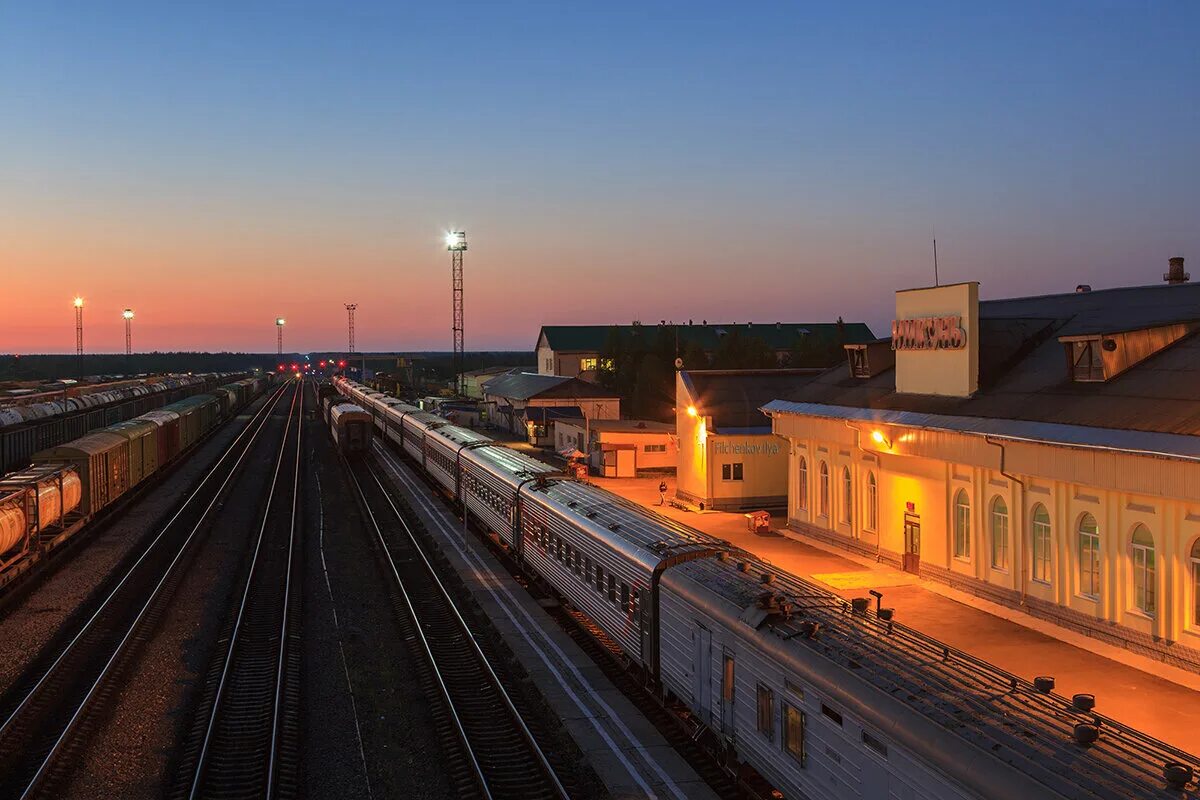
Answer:
MULTIPOLYGON (((450 377, 452 354, 450 353, 407 353, 407 359, 419 363, 427 375, 450 377)), ((92 375, 131 375, 163 372, 248 372, 258 368, 264 372, 275 369, 280 363, 302 362, 305 354, 284 353, 134 353, 124 354, 88 354, 83 356, 68 354, 46 355, 0 355, 0 380, 55 380, 59 378, 80 378, 92 375)), ((346 354, 311 354, 310 363, 320 359, 346 359, 346 354)), ((366 359, 367 368, 388 372, 396 368, 395 357, 378 357, 370 353, 355 353, 355 365, 366 359)), ((512 367, 532 367, 534 354, 528 350, 517 351, 476 351, 464 355, 467 369, 479 369, 497 365, 512 367)))

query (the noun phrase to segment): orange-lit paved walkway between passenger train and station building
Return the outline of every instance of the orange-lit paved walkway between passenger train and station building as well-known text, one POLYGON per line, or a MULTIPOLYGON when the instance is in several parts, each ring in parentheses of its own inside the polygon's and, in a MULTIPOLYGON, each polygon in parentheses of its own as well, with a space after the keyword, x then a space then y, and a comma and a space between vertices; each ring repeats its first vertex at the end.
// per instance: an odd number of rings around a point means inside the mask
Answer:
MULTIPOLYGON (((772 533, 763 536, 750 533, 740 513, 658 506, 659 480, 593 477, 592 482, 726 539, 793 575, 815 578, 845 597, 868 596, 868 589, 882 591, 883 606, 895 608, 898 621, 1022 678, 1054 675, 1060 693, 1091 692, 1097 711, 1200 753, 1200 675, 889 566, 799 541, 791 531, 780 533, 785 519, 779 515, 772 518, 772 533)), ((674 479, 668 477, 667 485, 670 498, 674 479)))

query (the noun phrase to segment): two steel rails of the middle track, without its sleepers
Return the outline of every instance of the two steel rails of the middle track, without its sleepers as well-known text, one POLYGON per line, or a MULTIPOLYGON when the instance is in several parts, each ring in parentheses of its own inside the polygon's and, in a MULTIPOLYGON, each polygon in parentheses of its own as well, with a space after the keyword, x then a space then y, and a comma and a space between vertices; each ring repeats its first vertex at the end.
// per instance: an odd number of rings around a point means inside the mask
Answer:
MULTIPOLYGON (((302 449, 300 446, 300 433, 304 423, 304 383, 296 384, 296 393, 292 397, 292 408, 288 411, 288 429, 292 427, 292 417, 295 416, 296 420, 296 443, 295 443, 295 468, 293 471, 293 492, 292 492, 292 517, 289 523, 289 537, 288 537, 288 561, 287 561, 287 581, 284 582, 284 602, 282 606, 282 633, 280 636, 280 654, 276 670, 276 682, 275 682, 275 697, 271 711, 271 744, 270 744, 270 759, 268 764, 268 783, 266 783, 266 798, 272 796, 274 793, 274 778, 275 778, 275 756, 277 751, 278 740, 278 724, 280 724, 280 692, 282 690, 282 676, 283 676, 283 660, 287 651, 287 627, 288 627, 288 606, 287 601, 289 599, 290 587, 292 587, 292 561, 294 555, 295 545, 295 522, 296 522, 296 497, 299 494, 300 486, 300 461, 302 456, 302 449), (300 408, 296 409, 296 397, 300 398, 300 408)), ((250 594, 254 587, 254 578, 258 575, 259 557, 263 553, 263 541, 266 539, 266 525, 271 519, 271 505, 275 501, 276 487, 278 485, 280 470, 283 467, 284 453, 288 446, 288 429, 284 429, 283 440, 280 443, 280 452, 275 462, 275 471, 271 475, 271 486, 268 489, 266 495, 266 507, 263 510, 263 521, 258 528, 258 539, 254 542, 254 554, 251 558, 250 572, 246 576, 246 585, 242 590, 241 601, 238 604, 238 616, 234 620, 233 632, 229 637, 229 645, 226 650, 224 663, 221 667, 221 679, 217 684, 216 696, 212 699, 212 708, 209 711, 209 721, 204 730, 204 740, 200 745, 200 752, 196 760, 196 772, 192 776, 191 788, 188 789, 188 798, 197 798, 200 794, 200 783, 204 778, 205 768, 208 766, 209 754, 212 750, 212 738, 216 730, 217 721, 222 711, 222 700, 224 699, 226 687, 229 685, 229 680, 233 673, 234 657, 238 651, 238 643, 242 632, 242 622, 246 619, 246 610, 250 606, 250 594)))

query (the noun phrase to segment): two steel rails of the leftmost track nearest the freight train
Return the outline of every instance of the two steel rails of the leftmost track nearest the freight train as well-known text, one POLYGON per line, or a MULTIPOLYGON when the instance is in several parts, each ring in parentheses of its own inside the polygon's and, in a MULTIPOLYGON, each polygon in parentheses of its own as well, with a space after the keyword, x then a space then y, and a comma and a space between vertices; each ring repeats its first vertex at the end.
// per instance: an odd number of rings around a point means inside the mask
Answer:
POLYGON ((30 691, 20 700, 20 703, 17 705, 17 708, 13 709, 12 714, 10 714, 8 717, 5 720, 4 724, 0 724, 0 736, 2 736, 11 728, 11 726, 13 724, 13 722, 17 718, 19 718, 20 714, 29 705, 29 703, 32 700, 32 698, 41 691, 41 688, 46 684, 46 681, 49 680, 50 676, 55 673, 55 670, 59 668, 59 664, 62 663, 62 661, 74 649, 76 644, 91 628, 92 624, 95 624, 95 621, 100 618, 100 615, 104 610, 107 610, 109 603, 118 595, 118 593, 121 590, 121 588, 126 584, 126 582, 130 579, 130 577, 134 573, 134 571, 138 569, 138 566, 146 559, 146 557, 158 545, 158 542, 162 541, 162 537, 167 534, 167 531, 175 523, 175 521, 179 518, 179 516, 192 503, 192 500, 196 499, 196 497, 199 494, 199 491, 204 487, 205 483, 208 483, 209 479, 212 477, 217 473, 217 470, 221 467, 221 464, 226 461, 226 458, 229 456, 229 453, 234 451, 236 444, 251 429, 251 427, 254 425, 254 421, 258 420, 257 427, 254 427, 254 431, 251 433, 251 437, 246 441, 246 445, 242 449, 241 453, 238 456, 238 459, 233 463, 232 467, 229 467, 228 473, 226 474, 224 480, 221 482, 221 486, 217 488, 217 491, 214 494, 212 499, 209 501, 209 505, 205 506, 205 509, 204 509, 203 512, 200 512, 199 519, 192 527, 192 530, 187 534, 187 537, 184 540, 182 545, 180 545, 178 552, 175 553, 174 558, 170 560, 170 563, 167 566, 167 569, 163 571, 163 573, 160 577, 160 579, 157 581, 157 583, 155 583, 154 589, 151 590, 150 595, 146 597, 146 601, 143 603, 142 608, 138 610, 137 616, 134 616, 133 621, 130 624, 130 626, 126 630, 125 634, 121 637, 120 642, 118 642, 118 644, 114 648, 112 655, 104 662, 104 666, 101 668, 100 674, 96 676, 96 679, 92 681, 91 686, 88 688, 88 692, 84 694, 83 699, 79 702, 78 706, 72 712, 71 717, 67 720, 67 722, 64 726, 62 730, 55 738, 54 744, 50 746, 50 750, 46 754, 46 757, 43 758, 41 765, 38 765, 37 771, 34 774, 34 776, 30 778, 29 783, 23 789, 23 792, 20 794, 20 796, 23 799, 31 796, 34 794, 34 792, 36 792, 37 786, 41 783, 41 781, 46 776, 47 771, 49 770, 50 765, 53 764, 53 762, 54 762, 55 757, 58 756, 59 751, 62 748, 62 745, 67 741, 67 739, 71 735, 72 730, 74 729, 76 724, 79 722, 79 720, 83 717, 84 712, 88 710, 89 705, 91 704, 92 698, 96 696, 96 692, 98 691, 100 686, 103 684, 104 679, 108 676, 109 672, 113 668, 113 664, 116 663, 116 660, 125 651, 125 648, 128 645, 130 640, 133 638, 134 632, 137 631, 137 628, 140 625, 142 620, 145 618, 145 614, 149 610, 150 606, 154 603, 155 599, 158 596, 158 593, 162 590, 162 587, 166 585, 166 583, 170 578, 172 573, 174 572, 175 566, 179 564, 179 561, 182 558, 184 553, 187 551, 187 548, 191 545, 192 540, 196 537, 197 531, 199 531, 199 529, 204 525, 204 523, 206 522, 208 516, 211 512, 212 507, 216 505, 217 500, 221 499, 222 493, 223 493, 226 486, 228 486, 229 481, 233 479, 234 474, 236 473, 238 467, 241 464, 242 459, 246 457, 246 453, 250 452, 250 449, 253 446, 254 441, 258 439, 259 433, 262 432, 263 427, 266 425, 266 420, 270 416, 270 411, 275 409, 275 405, 278 403, 278 401, 280 401, 280 398, 282 396, 283 396, 283 387, 281 386, 280 390, 275 393, 275 396, 270 397, 268 399, 268 402, 263 404, 263 408, 259 409, 253 417, 251 417, 250 422, 247 422, 246 427, 241 431, 241 433, 238 434, 238 438, 234 439, 233 443, 230 443, 229 447, 226 449, 226 452, 222 453, 221 458, 217 461, 216 464, 214 464, 212 469, 210 469, 205 474, 205 476, 200 481, 200 483, 198 483, 196 486, 196 488, 187 497, 187 499, 184 501, 184 504, 175 511, 175 513, 167 522, 167 524, 162 527, 162 529, 158 531, 157 536, 155 536, 155 539, 150 543, 150 546, 146 547, 145 551, 143 551, 143 553, 138 557, 137 561, 134 561, 133 565, 126 571, 126 573, 121 577, 121 581, 104 597, 104 600, 101 602, 101 604, 96 609, 96 612, 92 613, 92 615, 88 619, 88 621, 84 624, 84 626, 76 633, 74 637, 72 637, 71 642, 67 643, 67 645, 58 655, 58 657, 54 660, 54 662, 46 669, 46 672, 37 680, 37 682, 30 688, 30 691))

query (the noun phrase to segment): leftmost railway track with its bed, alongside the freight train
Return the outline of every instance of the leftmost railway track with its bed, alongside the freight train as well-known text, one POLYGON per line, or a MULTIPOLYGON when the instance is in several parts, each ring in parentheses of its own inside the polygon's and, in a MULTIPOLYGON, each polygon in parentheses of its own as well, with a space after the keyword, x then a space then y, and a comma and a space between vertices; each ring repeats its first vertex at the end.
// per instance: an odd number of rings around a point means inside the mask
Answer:
POLYGON ((0 799, 53 795, 121 674, 169 607, 186 555, 286 393, 281 386, 121 575, 0 698, 0 799))

